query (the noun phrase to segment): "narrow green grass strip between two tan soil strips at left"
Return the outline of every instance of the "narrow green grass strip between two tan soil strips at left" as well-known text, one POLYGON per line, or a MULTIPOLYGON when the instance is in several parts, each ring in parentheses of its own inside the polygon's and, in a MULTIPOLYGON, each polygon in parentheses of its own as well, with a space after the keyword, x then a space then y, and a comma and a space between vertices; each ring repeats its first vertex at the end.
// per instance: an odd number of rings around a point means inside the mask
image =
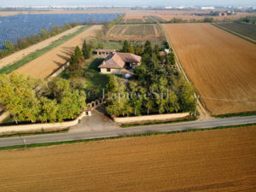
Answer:
POLYGON ((3 68, 0 69, 0 74, 9 74, 12 73, 13 71, 15 71, 17 68, 22 67, 23 65, 25 65, 26 63, 38 58, 38 56, 45 54, 46 52, 48 52, 51 49, 54 49, 55 47, 59 46, 60 44, 65 43, 67 40, 79 35, 81 32, 84 32, 85 29, 87 29, 89 26, 84 26, 82 28, 80 28, 77 32, 73 32, 72 34, 69 34, 67 36, 64 36, 63 38, 60 38, 58 40, 56 40, 53 44, 50 44, 49 46, 43 48, 43 49, 39 49, 35 52, 32 52, 29 55, 26 55, 26 57, 24 57, 23 59, 21 59, 20 61, 16 61, 14 64, 9 65, 9 66, 5 66, 3 68))

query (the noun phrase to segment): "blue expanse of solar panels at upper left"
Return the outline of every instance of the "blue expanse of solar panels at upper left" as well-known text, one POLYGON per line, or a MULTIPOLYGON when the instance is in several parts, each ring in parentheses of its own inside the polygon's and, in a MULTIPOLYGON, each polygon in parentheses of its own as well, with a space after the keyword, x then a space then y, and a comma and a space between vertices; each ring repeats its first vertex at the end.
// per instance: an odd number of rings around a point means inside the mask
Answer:
POLYGON ((90 22, 114 20, 119 14, 58 14, 58 15, 13 15, 0 17, 0 49, 3 43, 9 41, 13 44, 21 37, 28 37, 40 33, 42 29, 52 26, 62 26, 65 23, 90 22))

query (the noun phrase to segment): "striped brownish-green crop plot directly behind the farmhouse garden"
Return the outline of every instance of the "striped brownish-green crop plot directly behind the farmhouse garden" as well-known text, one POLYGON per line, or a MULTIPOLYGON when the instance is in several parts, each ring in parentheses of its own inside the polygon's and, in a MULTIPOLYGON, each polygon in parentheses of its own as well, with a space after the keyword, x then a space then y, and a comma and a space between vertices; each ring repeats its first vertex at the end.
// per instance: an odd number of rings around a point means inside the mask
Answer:
POLYGON ((139 25, 116 25, 108 32, 107 38, 115 39, 161 39, 162 34, 157 25, 139 24, 139 25))

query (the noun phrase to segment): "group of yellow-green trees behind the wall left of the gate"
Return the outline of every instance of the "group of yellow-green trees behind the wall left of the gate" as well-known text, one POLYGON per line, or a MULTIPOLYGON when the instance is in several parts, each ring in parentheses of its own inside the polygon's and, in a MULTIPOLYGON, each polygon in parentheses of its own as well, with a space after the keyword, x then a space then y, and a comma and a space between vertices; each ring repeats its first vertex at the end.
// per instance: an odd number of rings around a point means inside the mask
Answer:
POLYGON ((0 104, 15 122, 61 122, 86 108, 81 84, 65 79, 50 82, 12 73, 0 76, 0 104))

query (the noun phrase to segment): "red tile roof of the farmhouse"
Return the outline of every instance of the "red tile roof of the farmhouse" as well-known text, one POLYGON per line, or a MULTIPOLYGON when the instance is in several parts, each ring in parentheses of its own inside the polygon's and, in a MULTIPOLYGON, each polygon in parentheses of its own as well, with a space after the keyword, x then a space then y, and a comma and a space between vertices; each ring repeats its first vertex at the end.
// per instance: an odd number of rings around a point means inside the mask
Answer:
POLYGON ((99 68, 124 68, 125 62, 139 63, 142 57, 131 53, 115 53, 108 55, 99 68))

